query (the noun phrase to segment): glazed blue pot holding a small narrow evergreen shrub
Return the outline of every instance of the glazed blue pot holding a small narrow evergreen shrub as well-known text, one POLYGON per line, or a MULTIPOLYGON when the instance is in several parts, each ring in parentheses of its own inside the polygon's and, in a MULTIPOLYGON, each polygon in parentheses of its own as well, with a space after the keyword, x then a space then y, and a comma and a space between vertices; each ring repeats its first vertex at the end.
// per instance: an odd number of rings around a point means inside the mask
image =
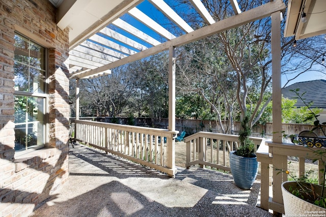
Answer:
POLYGON ((249 139, 251 129, 248 126, 249 115, 245 115, 241 121, 239 131, 240 145, 235 151, 230 152, 230 168, 236 186, 248 190, 256 180, 258 172, 255 145, 249 139))

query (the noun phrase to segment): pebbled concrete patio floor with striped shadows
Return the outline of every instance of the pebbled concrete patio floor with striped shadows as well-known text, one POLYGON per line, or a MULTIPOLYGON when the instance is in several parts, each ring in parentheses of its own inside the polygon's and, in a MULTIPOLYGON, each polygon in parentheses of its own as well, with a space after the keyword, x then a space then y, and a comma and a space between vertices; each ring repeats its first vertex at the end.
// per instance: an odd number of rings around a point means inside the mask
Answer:
POLYGON ((260 183, 238 189, 232 176, 178 168, 175 178, 76 144, 68 181, 31 216, 273 216, 256 207, 260 183))

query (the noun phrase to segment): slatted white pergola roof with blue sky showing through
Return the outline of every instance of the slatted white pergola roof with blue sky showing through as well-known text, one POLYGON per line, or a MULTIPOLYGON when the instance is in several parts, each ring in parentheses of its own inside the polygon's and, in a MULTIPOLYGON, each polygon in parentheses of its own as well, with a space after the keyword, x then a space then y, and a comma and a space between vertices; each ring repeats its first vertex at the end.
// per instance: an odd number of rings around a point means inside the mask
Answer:
POLYGON ((66 64, 72 78, 108 74, 115 67, 171 46, 202 39, 285 9, 282 0, 275 0, 241 12, 237 0, 229 0, 233 16, 218 21, 213 19, 201 0, 184 1, 178 6, 180 11, 174 11, 164 0, 49 1, 58 8, 57 25, 61 29, 70 29, 66 64), (186 3, 193 7, 187 10, 198 13, 206 25, 198 23, 201 27, 195 30, 194 23, 191 26, 180 17, 186 3), (170 22, 178 29, 178 35, 166 28, 170 22))

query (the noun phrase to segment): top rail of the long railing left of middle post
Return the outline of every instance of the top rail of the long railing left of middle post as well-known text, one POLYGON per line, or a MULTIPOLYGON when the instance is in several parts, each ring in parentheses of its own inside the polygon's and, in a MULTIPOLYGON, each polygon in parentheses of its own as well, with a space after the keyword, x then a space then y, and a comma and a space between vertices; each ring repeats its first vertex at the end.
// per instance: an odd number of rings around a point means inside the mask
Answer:
POLYGON ((165 137, 175 137, 179 131, 169 131, 166 129, 157 129, 157 128, 148 128, 148 127, 137 127, 131 125, 119 125, 118 123, 105 123, 105 122, 97 122, 91 120, 71 120, 71 122, 82 123, 85 125, 103 127, 103 128, 111 128, 116 130, 123 130, 129 132, 139 132, 145 134, 159 134, 165 137))

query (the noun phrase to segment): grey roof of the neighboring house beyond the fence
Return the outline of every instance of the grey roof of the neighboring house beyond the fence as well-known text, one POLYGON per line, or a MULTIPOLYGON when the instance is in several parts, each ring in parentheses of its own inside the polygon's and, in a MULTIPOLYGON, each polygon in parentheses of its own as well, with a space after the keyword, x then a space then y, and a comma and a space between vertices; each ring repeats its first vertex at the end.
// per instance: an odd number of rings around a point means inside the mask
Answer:
POLYGON ((319 113, 318 119, 326 122, 326 80, 303 81, 291 84, 282 88, 284 98, 297 100, 295 106, 297 108, 305 106, 304 102, 298 99, 295 92, 291 90, 298 89, 298 94, 303 95, 306 103, 311 103, 310 108, 321 108, 323 111, 319 113))

